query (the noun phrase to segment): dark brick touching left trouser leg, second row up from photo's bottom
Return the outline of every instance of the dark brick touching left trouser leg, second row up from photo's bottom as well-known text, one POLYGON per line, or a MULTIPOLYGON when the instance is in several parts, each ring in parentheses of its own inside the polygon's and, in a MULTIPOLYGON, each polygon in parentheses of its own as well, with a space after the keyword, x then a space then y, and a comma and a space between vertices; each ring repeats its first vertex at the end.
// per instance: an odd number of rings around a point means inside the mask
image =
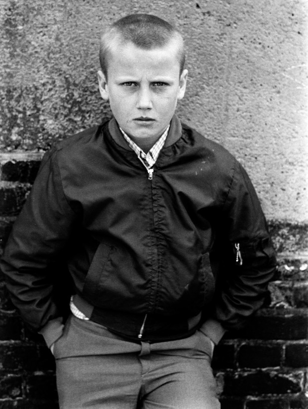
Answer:
POLYGON ((26 379, 26 397, 54 402, 57 399, 56 377, 53 374, 35 374, 26 379))

